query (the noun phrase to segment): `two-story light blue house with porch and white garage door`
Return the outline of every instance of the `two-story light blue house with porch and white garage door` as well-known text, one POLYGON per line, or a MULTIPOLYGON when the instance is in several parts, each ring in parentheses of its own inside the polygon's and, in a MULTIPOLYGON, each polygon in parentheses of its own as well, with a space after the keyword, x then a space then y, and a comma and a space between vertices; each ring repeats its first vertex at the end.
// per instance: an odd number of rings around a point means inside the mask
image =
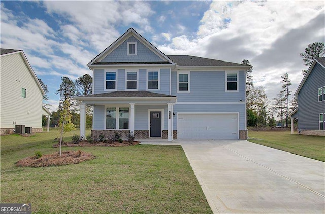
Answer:
POLYGON ((87 65, 92 135, 246 139, 246 71, 251 66, 189 55, 167 56, 130 28, 87 65))

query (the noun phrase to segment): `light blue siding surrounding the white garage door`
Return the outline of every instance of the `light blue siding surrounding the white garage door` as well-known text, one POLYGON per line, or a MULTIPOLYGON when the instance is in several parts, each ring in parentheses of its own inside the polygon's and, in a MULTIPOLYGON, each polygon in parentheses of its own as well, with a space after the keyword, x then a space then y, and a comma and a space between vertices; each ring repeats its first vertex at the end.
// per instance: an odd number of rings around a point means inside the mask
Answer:
POLYGON ((239 112, 239 130, 245 129, 245 105, 244 104, 176 104, 173 107, 175 117, 173 118, 173 130, 177 130, 178 112, 239 112))

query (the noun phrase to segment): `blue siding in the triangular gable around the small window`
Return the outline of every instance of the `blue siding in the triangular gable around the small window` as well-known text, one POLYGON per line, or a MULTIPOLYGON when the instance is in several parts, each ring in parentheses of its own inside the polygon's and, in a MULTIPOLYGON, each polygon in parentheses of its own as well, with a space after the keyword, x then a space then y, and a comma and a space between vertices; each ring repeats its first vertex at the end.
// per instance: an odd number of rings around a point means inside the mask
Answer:
POLYGON ((163 61, 134 36, 126 39, 120 46, 107 55, 101 62, 158 62, 163 61), (127 42, 137 42, 137 55, 127 56, 127 42))

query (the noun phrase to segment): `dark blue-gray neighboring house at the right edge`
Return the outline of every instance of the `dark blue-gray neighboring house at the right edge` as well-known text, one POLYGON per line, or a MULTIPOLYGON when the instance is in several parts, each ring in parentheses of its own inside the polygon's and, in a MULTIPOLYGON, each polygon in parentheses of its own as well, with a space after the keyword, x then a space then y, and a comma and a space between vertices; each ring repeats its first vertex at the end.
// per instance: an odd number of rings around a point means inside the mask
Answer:
POLYGON ((289 115, 291 124, 293 118, 298 118, 301 134, 325 136, 325 57, 313 60, 295 96, 298 109, 289 115))

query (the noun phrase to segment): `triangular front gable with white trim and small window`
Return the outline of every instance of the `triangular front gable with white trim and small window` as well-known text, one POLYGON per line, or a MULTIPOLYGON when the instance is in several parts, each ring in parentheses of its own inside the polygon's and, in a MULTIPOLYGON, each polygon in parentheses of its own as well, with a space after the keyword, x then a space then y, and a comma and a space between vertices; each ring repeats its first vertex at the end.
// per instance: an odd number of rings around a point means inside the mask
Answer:
POLYGON ((169 64, 175 63, 130 28, 87 65, 169 64))

